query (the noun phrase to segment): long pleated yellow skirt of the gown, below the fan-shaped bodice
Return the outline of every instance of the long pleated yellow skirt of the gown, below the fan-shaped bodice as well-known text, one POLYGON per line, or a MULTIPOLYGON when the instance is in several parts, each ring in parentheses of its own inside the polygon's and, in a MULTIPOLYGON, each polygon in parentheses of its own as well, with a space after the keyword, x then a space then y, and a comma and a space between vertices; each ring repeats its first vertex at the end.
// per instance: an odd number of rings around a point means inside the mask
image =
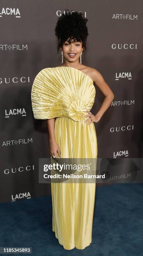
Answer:
MULTIPOLYGON (((94 123, 56 118, 55 139, 61 158, 97 158, 94 123)), ((52 230, 59 243, 66 250, 86 248, 92 241, 96 182, 52 182, 51 190, 52 230)))

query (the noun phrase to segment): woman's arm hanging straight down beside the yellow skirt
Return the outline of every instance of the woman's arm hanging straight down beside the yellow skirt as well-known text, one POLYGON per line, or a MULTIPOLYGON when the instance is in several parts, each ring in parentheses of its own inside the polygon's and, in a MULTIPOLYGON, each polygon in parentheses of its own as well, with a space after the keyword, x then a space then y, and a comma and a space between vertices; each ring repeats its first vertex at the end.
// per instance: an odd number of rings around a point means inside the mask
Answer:
POLYGON ((55 125, 54 118, 47 119, 47 127, 48 127, 48 132, 49 132, 49 151, 50 151, 51 156, 57 157, 57 152, 58 152, 59 157, 61 157, 61 152, 60 152, 59 146, 55 140, 54 125, 55 125))

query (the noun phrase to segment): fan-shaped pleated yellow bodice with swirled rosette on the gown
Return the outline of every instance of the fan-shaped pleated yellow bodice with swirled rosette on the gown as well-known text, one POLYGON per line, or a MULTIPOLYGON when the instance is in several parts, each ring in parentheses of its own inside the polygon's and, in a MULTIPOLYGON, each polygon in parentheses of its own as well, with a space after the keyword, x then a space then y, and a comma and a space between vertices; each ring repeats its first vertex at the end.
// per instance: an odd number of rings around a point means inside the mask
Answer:
POLYGON ((34 79, 31 99, 35 119, 67 117, 84 121, 94 104, 92 79, 72 67, 42 69, 34 79))

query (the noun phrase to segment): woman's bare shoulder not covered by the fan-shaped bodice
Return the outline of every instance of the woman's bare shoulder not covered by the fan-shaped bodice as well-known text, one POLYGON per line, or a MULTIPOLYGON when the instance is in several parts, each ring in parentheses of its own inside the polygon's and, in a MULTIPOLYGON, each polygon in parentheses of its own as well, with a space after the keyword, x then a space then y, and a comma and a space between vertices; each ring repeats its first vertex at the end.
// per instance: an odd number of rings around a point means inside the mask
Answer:
POLYGON ((101 73, 97 69, 94 69, 93 67, 87 67, 83 65, 82 69, 80 70, 85 74, 87 74, 89 77, 91 77, 91 79, 94 82, 97 82, 98 80, 104 80, 101 73))

